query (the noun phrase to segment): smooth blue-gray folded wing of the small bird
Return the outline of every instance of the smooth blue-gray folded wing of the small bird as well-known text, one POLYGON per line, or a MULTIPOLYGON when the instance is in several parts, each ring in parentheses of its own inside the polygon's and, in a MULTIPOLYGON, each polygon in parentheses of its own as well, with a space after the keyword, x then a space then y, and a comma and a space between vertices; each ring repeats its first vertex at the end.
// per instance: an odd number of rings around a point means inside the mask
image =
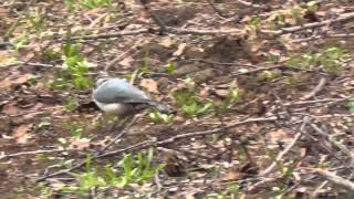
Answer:
POLYGON ((101 103, 148 103, 150 100, 129 83, 112 78, 93 91, 93 97, 101 103))

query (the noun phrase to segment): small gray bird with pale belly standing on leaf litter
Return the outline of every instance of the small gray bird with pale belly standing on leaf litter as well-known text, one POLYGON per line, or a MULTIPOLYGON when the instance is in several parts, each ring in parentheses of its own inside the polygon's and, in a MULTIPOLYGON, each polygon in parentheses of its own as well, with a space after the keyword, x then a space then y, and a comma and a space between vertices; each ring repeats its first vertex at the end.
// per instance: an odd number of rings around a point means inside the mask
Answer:
POLYGON ((117 77, 98 78, 92 98, 103 112, 117 116, 135 114, 149 107, 163 113, 170 112, 167 105, 150 100, 142 90, 117 77))

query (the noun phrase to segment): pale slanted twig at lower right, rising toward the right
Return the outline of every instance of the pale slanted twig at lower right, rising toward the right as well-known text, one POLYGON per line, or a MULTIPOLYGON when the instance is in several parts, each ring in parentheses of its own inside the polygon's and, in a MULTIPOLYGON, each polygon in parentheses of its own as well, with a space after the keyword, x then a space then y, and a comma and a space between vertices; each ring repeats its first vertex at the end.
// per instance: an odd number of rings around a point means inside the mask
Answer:
POLYGON ((290 151, 290 149, 296 144, 296 142, 300 139, 302 136, 302 132, 304 130, 305 126, 309 123, 309 117, 304 117, 303 123, 299 129, 299 133, 295 134, 294 138, 291 140, 291 143, 282 150, 281 153, 278 154, 275 160, 264 170, 262 171, 261 176, 267 176, 269 175, 277 166, 277 164, 290 151))

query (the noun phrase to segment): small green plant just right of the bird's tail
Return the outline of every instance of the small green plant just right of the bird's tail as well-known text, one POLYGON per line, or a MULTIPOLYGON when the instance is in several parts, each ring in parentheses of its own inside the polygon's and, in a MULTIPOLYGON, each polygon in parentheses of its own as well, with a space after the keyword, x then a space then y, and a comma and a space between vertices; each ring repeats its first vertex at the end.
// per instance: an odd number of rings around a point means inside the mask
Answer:
POLYGON ((192 92, 179 90, 175 92, 177 104, 186 117, 195 117, 211 109, 211 102, 202 102, 192 92))

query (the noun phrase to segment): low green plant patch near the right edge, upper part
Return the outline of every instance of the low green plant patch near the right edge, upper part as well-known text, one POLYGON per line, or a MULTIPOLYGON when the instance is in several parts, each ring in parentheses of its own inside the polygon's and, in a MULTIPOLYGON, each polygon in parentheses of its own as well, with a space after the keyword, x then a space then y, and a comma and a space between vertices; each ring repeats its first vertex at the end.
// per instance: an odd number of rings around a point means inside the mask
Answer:
POLYGON ((341 62, 345 61, 348 54, 340 48, 329 48, 320 50, 317 53, 306 53, 299 56, 293 56, 288 61, 288 65, 312 70, 315 66, 322 66, 323 71, 339 74, 342 71, 341 62))

